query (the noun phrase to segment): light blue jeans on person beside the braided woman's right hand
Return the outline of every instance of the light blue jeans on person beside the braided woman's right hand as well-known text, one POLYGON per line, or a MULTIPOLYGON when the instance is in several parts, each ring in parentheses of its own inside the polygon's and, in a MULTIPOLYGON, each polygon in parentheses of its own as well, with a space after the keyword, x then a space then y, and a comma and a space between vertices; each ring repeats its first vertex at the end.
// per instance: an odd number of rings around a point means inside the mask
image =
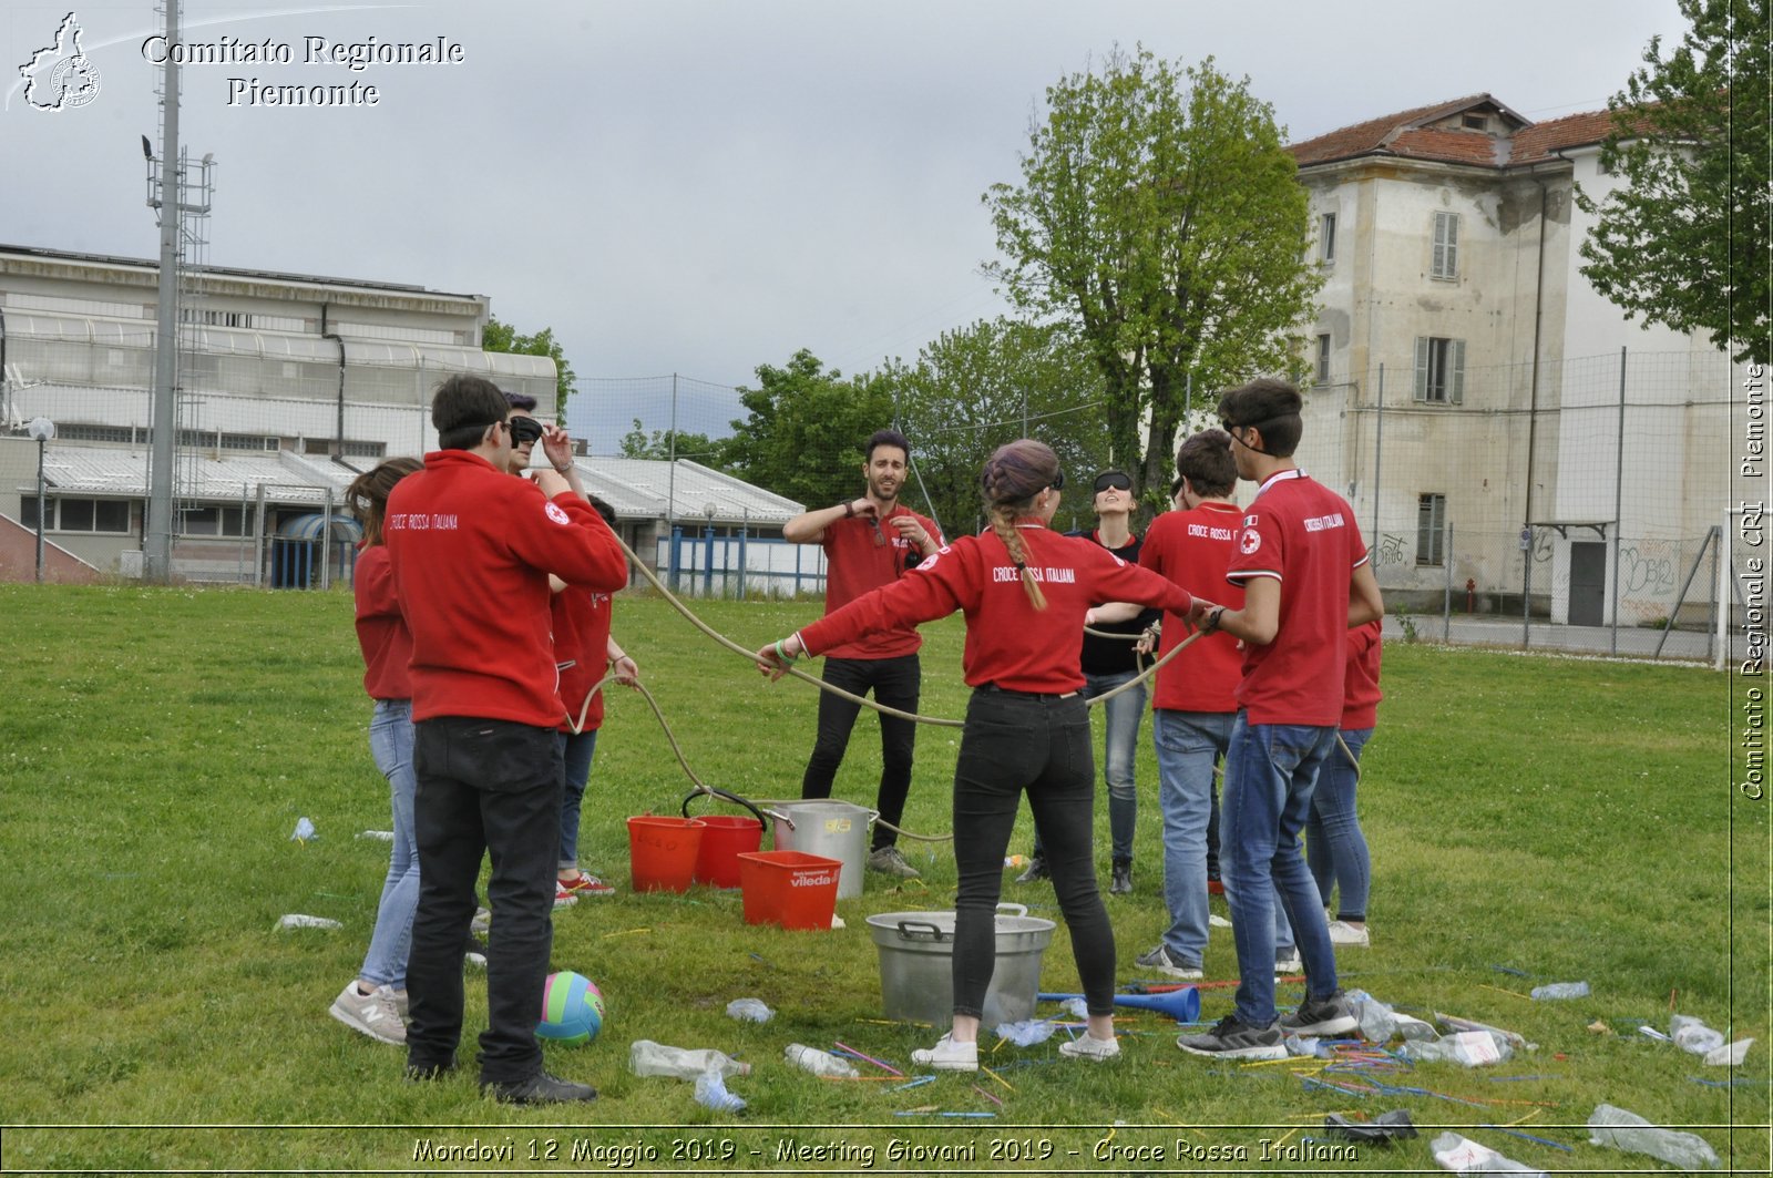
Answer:
POLYGON ((1158 752, 1158 805, 1163 811, 1163 903, 1170 956, 1200 969, 1207 951, 1207 818, 1213 814, 1213 763, 1230 743, 1232 711, 1151 713, 1158 752))

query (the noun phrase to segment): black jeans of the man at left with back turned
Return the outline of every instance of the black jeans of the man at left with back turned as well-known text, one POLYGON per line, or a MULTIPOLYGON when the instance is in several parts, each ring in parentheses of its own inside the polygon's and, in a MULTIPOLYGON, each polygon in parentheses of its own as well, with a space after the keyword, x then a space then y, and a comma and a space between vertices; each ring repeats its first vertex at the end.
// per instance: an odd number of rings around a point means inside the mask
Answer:
POLYGON ((486 896, 496 919, 486 947, 480 1080, 523 1080, 543 1066, 535 1024, 553 947, 560 743, 550 727, 436 717, 415 726, 413 766, 418 914, 406 963, 406 1061, 420 1070, 454 1063, 473 885, 489 852, 486 896))

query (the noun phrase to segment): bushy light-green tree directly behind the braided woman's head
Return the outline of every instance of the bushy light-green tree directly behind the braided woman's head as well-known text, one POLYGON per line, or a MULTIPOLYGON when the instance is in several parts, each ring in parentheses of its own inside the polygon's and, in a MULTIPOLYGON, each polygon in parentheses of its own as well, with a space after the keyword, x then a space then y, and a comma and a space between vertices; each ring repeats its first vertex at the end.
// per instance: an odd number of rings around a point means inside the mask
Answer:
POLYGON ((1064 328, 980 319, 943 332, 915 364, 888 362, 871 385, 892 397, 911 442, 915 477, 902 497, 927 507, 945 534, 979 529, 979 468, 1021 436, 1058 451, 1073 479, 1058 523, 1089 518, 1089 490, 1078 499, 1073 488, 1106 465, 1103 380, 1064 328))

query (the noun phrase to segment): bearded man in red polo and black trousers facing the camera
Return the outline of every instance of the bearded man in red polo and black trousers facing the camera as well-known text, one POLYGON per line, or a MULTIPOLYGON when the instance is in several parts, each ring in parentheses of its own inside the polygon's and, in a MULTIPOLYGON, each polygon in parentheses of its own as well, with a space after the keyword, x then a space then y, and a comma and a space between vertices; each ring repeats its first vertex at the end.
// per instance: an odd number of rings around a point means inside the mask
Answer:
MULTIPOLYGON (((824 548, 824 612, 833 614, 871 589, 890 585, 906 569, 917 568, 924 557, 941 546, 941 529, 934 520, 917 514, 899 504, 904 486, 911 444, 895 429, 879 429, 869 438, 867 461, 862 477, 867 493, 862 499, 817 507, 794 516, 782 525, 782 536, 794 545, 824 548)), ((823 679, 853 695, 874 690, 874 701, 899 711, 917 711, 922 669, 917 651, 924 644, 913 626, 874 633, 855 642, 844 642, 824 653, 823 679)), ((800 797, 832 797, 832 781, 844 763, 849 733, 856 726, 862 704, 819 692, 819 734, 800 782, 800 797)), ((881 715, 881 784, 874 809, 881 821, 874 823, 874 841, 869 869, 917 878, 917 868, 899 852, 899 832, 894 827, 904 816, 904 798, 911 791, 911 752, 917 742, 917 724, 881 715)))

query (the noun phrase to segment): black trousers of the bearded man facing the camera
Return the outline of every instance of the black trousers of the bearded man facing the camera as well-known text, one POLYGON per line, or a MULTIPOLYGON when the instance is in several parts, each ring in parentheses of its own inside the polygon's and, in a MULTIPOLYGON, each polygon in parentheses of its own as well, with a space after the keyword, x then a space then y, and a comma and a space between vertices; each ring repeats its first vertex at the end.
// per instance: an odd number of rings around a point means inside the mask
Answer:
MULTIPOLYGON (((826 658, 821 676, 832 687, 840 687, 851 695, 867 695, 874 688, 874 703, 899 711, 917 711, 917 692, 922 685, 922 667, 917 655, 899 658, 826 658)), ((844 763, 844 750, 849 747, 849 731, 856 726, 856 713, 862 704, 853 704, 830 692, 819 692, 819 736, 812 743, 812 758, 807 761, 807 775, 800 782, 800 797, 832 797, 832 781, 837 766, 844 763)), ((874 809, 885 821, 899 825, 904 818, 904 798, 911 793, 911 752, 917 743, 917 724, 897 717, 881 715, 881 788, 874 809)), ((871 850, 892 846, 899 841, 895 830, 874 823, 874 843, 871 850)))

